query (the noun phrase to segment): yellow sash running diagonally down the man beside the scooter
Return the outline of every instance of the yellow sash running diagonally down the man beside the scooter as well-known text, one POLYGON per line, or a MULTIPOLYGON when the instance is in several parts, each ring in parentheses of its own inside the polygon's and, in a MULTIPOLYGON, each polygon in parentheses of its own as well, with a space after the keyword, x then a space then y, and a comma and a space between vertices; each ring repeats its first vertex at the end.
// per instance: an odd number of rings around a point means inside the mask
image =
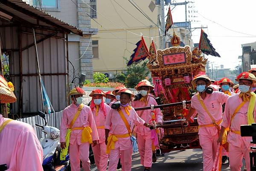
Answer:
POLYGON ((65 136, 66 148, 61 149, 61 155, 60 155, 61 160, 66 159, 68 146, 69 146, 69 142, 70 142, 70 133, 72 131, 72 127, 73 127, 74 123, 76 122, 76 119, 78 118, 79 114, 81 113, 81 110, 82 110, 83 106, 84 106, 84 104, 80 104, 79 108, 76 111, 76 114, 75 114, 74 118, 72 119, 72 121, 70 123, 70 127, 67 129, 67 133, 66 133, 66 136, 65 136))

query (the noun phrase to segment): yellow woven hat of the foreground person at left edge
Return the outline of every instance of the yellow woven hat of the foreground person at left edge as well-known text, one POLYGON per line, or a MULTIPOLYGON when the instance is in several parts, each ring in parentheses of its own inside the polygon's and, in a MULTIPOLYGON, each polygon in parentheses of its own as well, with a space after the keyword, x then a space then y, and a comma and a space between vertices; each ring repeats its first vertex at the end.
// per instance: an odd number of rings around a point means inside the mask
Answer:
POLYGON ((6 79, 0 75, 0 103, 15 102, 17 99, 13 91, 13 84, 11 82, 8 83, 6 79))

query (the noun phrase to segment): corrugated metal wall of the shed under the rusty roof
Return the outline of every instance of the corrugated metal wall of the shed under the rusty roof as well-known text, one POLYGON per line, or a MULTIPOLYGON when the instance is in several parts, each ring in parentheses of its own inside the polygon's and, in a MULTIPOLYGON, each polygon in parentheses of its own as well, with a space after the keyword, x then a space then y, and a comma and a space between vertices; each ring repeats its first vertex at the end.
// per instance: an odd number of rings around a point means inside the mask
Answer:
MULTIPOLYGON (((12 49, 16 52, 11 52, 9 55, 10 74, 16 75, 12 77, 12 82, 15 86, 15 94, 17 99, 20 96, 20 63, 18 50, 18 28, 17 27, 1 27, 0 33, 3 39, 2 48, 12 49)), ((31 28, 22 28, 21 48, 29 46, 33 42, 31 28)), ((44 38, 44 35, 50 35, 52 32, 36 30, 37 41, 44 38)), ((1 43, 2 44, 2 43, 1 43)), ((38 58, 41 74, 45 73, 65 73, 66 58, 65 58, 65 39, 64 34, 58 33, 55 37, 38 43, 38 58)), ((36 74, 36 56, 35 46, 32 46, 22 52, 22 72, 23 74, 36 74)), ((66 107, 67 93, 67 76, 66 75, 47 75, 42 76, 44 86, 52 106, 55 111, 63 110, 66 107)), ((38 84, 38 76, 23 76, 23 113, 37 113, 41 110, 41 96, 38 84)), ((18 113, 18 102, 12 105, 11 113, 18 113)))

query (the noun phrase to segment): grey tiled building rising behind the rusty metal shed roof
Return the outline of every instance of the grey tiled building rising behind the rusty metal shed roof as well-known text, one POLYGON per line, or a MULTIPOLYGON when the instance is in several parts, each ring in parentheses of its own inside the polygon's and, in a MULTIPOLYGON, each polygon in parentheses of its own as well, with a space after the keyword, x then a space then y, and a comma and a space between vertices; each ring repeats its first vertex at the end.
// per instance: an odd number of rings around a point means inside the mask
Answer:
POLYGON ((91 8, 96 9, 96 0, 26 0, 26 2, 83 31, 82 37, 75 34, 68 36, 70 81, 80 73, 86 74, 86 79, 93 81, 91 37, 97 34, 98 29, 91 27, 90 16, 93 17, 95 14, 91 8))

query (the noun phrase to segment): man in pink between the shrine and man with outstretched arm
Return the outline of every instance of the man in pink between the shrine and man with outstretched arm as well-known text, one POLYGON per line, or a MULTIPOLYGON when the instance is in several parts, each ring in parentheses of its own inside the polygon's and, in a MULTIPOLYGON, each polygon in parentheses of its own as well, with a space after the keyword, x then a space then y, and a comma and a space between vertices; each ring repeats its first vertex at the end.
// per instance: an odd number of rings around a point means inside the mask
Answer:
MULTIPOLYGON (((135 88, 136 90, 140 91, 142 98, 140 100, 133 101, 131 104, 132 107, 137 108, 157 105, 156 100, 151 95, 148 95, 148 93, 154 88, 149 81, 142 80, 137 84, 135 88)), ((153 122, 151 110, 140 110, 137 111, 137 113, 145 122, 153 122)), ((155 122, 158 125, 162 125, 163 114, 161 113, 160 109, 155 109, 155 117, 155 122)), ((144 126, 136 125, 134 131, 137 133, 137 142, 140 152, 140 163, 144 166, 145 171, 149 170, 152 166, 152 162, 156 162, 157 160, 155 145, 153 144, 151 136, 152 131, 156 130, 150 130, 149 128, 145 128, 144 126), (152 152, 152 149, 154 149, 154 153, 152 152)))

